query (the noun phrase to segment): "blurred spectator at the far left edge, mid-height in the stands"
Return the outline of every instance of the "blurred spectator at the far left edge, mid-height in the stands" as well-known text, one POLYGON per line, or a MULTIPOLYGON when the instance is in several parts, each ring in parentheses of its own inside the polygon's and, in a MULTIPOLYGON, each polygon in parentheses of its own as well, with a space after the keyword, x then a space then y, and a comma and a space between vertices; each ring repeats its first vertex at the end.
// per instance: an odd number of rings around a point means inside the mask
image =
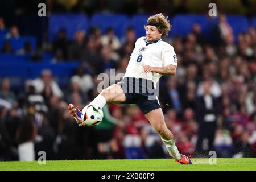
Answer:
POLYGON ((10 102, 13 107, 15 107, 18 104, 15 93, 10 90, 9 78, 2 78, 0 98, 6 100, 7 102, 10 102))

